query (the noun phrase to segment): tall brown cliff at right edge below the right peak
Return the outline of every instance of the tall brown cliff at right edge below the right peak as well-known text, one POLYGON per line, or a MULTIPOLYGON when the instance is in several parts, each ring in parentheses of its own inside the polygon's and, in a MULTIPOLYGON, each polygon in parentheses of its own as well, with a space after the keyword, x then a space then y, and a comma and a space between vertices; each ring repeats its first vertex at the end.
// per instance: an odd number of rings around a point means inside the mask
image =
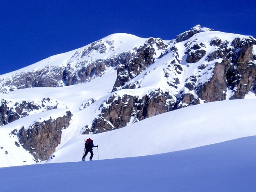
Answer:
POLYGON ((221 63, 215 64, 212 78, 196 88, 198 96, 207 101, 221 101, 226 98, 227 88, 233 90, 230 99, 244 99, 256 79, 256 65, 253 62, 253 38, 233 41, 234 48, 227 48, 227 42, 212 41, 220 48, 208 55, 207 61, 222 58, 221 63))

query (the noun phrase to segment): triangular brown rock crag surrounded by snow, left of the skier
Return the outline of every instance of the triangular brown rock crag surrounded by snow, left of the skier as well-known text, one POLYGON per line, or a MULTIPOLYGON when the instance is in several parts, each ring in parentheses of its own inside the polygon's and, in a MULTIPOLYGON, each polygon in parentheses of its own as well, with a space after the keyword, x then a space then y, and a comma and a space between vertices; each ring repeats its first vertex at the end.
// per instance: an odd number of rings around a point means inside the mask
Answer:
POLYGON ((57 119, 36 122, 27 130, 21 128, 17 134, 20 144, 35 160, 47 160, 61 142, 61 131, 69 126, 71 116, 67 111, 65 116, 57 119))

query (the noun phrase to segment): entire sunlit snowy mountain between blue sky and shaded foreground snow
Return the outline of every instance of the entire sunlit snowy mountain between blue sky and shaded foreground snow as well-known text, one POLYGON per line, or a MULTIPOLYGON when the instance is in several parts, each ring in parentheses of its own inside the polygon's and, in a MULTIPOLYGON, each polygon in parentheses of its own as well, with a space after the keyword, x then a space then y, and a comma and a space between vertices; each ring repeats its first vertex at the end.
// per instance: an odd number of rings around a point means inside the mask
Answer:
POLYGON ((251 36, 199 25, 170 41, 109 35, 0 76, 0 166, 81 160, 82 134, 101 159, 255 135, 254 101, 223 101, 255 99, 255 82, 251 36))

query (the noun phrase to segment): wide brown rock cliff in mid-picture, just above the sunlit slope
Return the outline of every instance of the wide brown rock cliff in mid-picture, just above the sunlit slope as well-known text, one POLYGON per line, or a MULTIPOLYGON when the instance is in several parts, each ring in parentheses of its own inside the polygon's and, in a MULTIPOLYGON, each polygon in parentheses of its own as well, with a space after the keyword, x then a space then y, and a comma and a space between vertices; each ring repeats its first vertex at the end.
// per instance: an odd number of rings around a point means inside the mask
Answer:
POLYGON ((122 128, 136 121, 172 111, 174 105, 172 96, 159 90, 143 98, 114 94, 102 106, 102 113, 93 121, 91 132, 100 133, 122 128))

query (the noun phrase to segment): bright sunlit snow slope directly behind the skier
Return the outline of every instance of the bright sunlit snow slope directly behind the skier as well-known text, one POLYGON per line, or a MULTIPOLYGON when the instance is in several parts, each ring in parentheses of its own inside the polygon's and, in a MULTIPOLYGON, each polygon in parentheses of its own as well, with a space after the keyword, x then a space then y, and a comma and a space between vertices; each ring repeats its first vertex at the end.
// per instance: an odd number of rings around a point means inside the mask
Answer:
MULTIPOLYGON (((93 135, 80 135, 57 149, 47 163, 81 161, 84 139, 94 145, 94 160, 162 154, 256 135, 256 100, 194 105, 93 135)), ((86 160, 88 160, 87 157, 86 160)))

